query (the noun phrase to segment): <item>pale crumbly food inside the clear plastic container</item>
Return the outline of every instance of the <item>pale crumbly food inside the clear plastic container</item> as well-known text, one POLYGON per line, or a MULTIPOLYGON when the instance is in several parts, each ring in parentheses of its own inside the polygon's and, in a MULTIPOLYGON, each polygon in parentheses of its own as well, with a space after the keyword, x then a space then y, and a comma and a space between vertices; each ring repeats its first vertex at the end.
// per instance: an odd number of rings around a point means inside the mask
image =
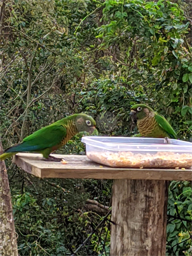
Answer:
POLYGON ((192 154, 157 152, 155 154, 134 154, 130 151, 112 152, 87 152, 87 157, 97 163, 111 167, 132 167, 132 168, 186 168, 192 167, 192 154))

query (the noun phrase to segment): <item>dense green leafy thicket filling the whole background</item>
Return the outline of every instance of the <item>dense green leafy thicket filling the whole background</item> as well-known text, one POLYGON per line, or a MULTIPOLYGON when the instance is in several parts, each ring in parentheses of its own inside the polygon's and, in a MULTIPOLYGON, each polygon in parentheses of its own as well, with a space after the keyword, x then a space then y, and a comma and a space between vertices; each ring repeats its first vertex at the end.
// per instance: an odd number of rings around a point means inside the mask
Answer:
MULTIPOLYGON (((191 1, 1 2, 4 148, 72 113, 100 134, 137 133, 131 105, 148 103, 191 141, 191 1), (103 125, 102 117, 114 122, 103 125)), ((85 154, 80 134, 64 154, 85 154)), ((38 179, 6 160, 20 255, 109 255, 111 180, 38 179), (98 224, 102 222, 99 227, 98 224), (95 230, 95 232, 94 232, 95 230)), ((167 255, 191 255, 191 183, 169 187, 167 255)))

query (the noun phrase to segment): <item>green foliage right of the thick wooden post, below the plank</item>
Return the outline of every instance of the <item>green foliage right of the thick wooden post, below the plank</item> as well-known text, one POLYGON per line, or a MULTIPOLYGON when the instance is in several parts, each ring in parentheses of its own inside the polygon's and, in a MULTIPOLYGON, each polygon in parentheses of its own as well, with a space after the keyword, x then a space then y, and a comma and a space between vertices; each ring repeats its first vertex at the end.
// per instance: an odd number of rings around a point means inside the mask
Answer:
POLYGON ((182 255, 183 251, 191 248, 191 197, 191 182, 171 182, 167 209, 167 255, 182 255))

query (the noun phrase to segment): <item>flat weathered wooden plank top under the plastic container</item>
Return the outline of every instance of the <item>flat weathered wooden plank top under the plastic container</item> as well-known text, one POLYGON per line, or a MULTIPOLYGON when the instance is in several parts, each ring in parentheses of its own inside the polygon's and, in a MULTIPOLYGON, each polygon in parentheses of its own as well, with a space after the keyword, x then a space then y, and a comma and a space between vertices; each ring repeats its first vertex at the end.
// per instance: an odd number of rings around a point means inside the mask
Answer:
POLYGON ((18 153, 13 162, 28 173, 41 178, 74 179, 140 179, 140 180, 192 180, 192 170, 112 168, 90 161, 81 155, 59 155, 68 163, 46 162, 41 154, 18 153))

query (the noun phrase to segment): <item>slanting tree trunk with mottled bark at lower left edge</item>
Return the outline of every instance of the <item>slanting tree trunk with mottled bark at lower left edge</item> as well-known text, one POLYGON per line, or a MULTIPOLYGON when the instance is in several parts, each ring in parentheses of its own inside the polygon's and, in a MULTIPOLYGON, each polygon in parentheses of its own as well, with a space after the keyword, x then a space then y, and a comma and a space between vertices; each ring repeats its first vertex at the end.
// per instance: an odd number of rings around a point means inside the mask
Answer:
MULTIPOLYGON (((0 151, 2 153, 2 144, 0 144, 0 151)), ((0 255, 17 256, 17 239, 13 219, 11 194, 4 161, 1 161, 0 202, 0 255)))

